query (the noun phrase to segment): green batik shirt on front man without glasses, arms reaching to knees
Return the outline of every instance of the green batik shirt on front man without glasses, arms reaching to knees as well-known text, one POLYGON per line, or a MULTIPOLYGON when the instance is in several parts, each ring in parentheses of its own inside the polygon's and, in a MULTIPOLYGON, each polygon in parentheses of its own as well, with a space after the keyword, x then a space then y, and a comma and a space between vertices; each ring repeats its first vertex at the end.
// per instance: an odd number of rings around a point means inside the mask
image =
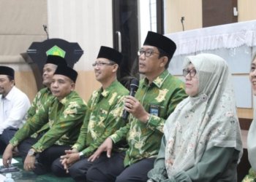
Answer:
POLYGON ((78 139, 86 109, 86 103, 75 91, 70 92, 60 101, 53 98, 51 102, 43 104, 37 114, 28 119, 15 133, 10 143, 17 146, 32 133, 41 129, 44 124, 49 123, 50 129, 32 148, 37 152, 42 152, 53 144, 72 146, 78 139))

